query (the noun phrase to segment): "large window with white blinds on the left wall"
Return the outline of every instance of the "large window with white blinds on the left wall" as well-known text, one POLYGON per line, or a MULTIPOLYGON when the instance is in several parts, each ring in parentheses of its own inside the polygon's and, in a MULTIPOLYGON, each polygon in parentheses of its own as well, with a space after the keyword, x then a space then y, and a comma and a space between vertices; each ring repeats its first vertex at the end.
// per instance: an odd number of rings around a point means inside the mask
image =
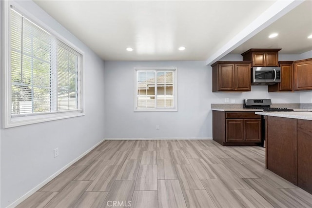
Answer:
POLYGON ((83 115, 82 53, 11 7, 4 127, 83 115))

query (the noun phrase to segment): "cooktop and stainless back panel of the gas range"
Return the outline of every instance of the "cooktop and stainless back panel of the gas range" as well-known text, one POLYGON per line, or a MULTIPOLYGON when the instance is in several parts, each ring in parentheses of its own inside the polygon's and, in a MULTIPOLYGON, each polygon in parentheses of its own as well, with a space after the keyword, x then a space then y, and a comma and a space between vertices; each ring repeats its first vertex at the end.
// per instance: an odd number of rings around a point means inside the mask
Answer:
POLYGON ((245 99, 244 108, 259 109, 263 111, 293 111, 285 107, 271 107, 271 99, 245 99))

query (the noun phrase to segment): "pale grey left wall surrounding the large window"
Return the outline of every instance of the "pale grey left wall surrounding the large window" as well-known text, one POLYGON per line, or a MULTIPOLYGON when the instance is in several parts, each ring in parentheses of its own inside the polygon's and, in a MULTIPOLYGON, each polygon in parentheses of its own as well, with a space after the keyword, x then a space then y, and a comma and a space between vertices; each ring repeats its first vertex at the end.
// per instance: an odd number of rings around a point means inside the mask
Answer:
POLYGON ((104 139, 104 62, 33 1, 19 3, 84 51, 85 116, 0 129, 1 208, 104 139), (59 157, 53 158, 56 147, 59 157))

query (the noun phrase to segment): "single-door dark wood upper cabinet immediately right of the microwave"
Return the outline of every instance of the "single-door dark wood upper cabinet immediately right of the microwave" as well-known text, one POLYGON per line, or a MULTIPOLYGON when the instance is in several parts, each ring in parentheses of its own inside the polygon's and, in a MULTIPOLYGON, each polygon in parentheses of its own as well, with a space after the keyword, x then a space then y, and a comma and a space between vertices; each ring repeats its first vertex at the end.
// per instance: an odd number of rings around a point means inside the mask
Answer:
POLYGON ((292 92, 293 91, 293 68, 292 61, 278 62, 281 67, 281 82, 268 86, 269 92, 292 92))

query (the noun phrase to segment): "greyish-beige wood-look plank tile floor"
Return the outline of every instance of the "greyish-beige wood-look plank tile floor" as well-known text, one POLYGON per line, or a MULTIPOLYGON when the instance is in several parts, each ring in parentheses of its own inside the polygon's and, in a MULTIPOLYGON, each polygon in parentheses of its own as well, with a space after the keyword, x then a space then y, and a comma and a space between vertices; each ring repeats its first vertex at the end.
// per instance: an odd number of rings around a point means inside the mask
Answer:
POLYGON ((104 141, 18 208, 312 208, 265 169, 265 148, 212 140, 104 141))

